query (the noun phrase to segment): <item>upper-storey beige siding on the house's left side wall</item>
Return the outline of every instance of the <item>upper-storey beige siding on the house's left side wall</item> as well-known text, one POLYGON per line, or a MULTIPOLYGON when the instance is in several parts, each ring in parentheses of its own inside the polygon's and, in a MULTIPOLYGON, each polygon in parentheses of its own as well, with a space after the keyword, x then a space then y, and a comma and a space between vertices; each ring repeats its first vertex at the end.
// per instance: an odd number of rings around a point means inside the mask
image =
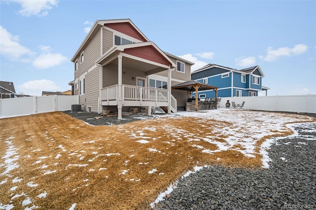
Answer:
POLYGON ((78 70, 75 72, 75 78, 86 72, 95 65, 95 61, 101 57, 101 29, 99 29, 91 40, 85 44, 85 47, 79 53, 78 70), (80 56, 83 52, 83 62, 80 62, 80 56))

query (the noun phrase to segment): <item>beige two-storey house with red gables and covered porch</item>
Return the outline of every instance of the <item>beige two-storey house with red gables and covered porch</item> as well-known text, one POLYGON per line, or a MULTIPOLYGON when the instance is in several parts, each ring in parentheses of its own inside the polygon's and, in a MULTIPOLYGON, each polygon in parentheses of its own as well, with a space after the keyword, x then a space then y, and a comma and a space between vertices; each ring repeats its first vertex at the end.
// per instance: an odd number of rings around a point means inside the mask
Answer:
POLYGON ((74 63, 74 95, 85 111, 122 112, 185 107, 188 94, 171 86, 191 79, 191 63, 162 51, 130 19, 97 20, 80 44, 74 63))

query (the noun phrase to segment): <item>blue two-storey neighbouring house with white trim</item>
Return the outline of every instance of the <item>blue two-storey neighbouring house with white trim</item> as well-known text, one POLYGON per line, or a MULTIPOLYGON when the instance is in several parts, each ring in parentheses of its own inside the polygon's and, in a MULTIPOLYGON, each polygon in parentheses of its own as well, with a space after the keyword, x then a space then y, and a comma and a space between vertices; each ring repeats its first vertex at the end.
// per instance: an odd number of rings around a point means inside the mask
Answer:
MULTIPOLYGON (((217 97, 258 96, 258 92, 270 88, 262 86, 265 75, 259 66, 242 70, 208 64, 191 73, 191 79, 217 87, 217 97)), ((195 98, 195 92, 192 94, 195 98)), ((199 91, 198 98, 214 98, 213 90, 199 91)))

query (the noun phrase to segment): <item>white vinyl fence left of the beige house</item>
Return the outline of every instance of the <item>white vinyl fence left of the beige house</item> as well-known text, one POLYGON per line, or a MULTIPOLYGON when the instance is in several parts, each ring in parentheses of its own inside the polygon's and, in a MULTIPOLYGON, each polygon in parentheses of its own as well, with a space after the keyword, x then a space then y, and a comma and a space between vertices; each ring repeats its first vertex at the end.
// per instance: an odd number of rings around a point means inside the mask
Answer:
POLYGON ((79 104, 79 96, 33 96, 0 99, 0 118, 16 117, 51 111, 71 110, 79 104))

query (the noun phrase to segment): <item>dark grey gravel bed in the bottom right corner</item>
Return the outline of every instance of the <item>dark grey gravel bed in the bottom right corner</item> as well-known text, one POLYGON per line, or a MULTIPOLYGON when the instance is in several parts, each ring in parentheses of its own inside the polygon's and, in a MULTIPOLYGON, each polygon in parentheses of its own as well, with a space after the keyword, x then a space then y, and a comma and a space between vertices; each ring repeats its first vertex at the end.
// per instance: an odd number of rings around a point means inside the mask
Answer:
POLYGON ((268 169, 203 168, 178 180, 155 210, 316 209, 316 123, 269 149, 268 169), (169 198, 167 198, 169 197, 169 198))

